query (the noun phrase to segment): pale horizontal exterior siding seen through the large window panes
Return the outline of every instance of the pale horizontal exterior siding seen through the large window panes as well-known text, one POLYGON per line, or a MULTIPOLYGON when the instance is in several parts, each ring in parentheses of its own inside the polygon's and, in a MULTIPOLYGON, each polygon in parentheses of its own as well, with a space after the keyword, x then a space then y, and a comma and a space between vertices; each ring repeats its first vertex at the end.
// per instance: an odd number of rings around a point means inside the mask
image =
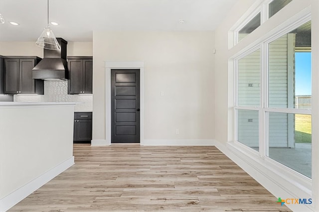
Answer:
MULTIPOLYGON (((291 40, 294 34, 286 34, 269 44, 269 107, 294 106, 295 42, 291 40)), ((238 61, 237 86, 238 106, 260 106, 260 50, 238 61)), ((258 112, 239 110, 237 117, 238 141, 258 147, 258 112)), ((287 113, 269 114, 269 147, 294 147, 292 119, 287 113)))

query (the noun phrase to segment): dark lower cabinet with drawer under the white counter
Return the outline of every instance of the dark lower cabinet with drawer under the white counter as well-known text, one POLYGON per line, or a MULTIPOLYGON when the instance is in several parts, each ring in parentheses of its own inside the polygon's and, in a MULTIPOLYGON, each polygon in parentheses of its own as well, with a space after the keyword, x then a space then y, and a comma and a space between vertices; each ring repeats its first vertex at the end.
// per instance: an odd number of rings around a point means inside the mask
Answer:
POLYGON ((74 143, 91 143, 92 140, 92 112, 74 113, 74 143))

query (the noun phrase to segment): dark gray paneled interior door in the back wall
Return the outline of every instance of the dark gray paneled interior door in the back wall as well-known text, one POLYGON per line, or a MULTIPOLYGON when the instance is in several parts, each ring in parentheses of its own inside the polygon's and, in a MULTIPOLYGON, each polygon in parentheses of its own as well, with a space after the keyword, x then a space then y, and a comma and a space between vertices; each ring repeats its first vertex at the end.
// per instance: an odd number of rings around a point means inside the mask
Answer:
POLYGON ((140 70, 111 70, 112 143, 140 143, 140 70))

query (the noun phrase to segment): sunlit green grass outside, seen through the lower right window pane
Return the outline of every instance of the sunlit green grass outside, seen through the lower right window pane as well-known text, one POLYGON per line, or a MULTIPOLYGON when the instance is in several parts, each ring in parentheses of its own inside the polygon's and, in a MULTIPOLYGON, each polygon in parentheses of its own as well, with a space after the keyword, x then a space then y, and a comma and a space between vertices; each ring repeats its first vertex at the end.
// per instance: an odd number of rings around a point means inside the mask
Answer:
POLYGON ((311 143, 311 115, 295 115, 295 142, 311 143))

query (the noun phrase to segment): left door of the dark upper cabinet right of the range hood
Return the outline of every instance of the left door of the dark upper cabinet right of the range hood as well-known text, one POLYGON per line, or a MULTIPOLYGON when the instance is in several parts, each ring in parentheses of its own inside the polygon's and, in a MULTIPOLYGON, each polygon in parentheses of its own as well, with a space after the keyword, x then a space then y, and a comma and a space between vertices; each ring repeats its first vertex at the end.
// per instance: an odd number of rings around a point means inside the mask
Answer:
POLYGON ((83 91, 83 60, 69 59, 68 60, 68 93, 82 94, 83 91))

